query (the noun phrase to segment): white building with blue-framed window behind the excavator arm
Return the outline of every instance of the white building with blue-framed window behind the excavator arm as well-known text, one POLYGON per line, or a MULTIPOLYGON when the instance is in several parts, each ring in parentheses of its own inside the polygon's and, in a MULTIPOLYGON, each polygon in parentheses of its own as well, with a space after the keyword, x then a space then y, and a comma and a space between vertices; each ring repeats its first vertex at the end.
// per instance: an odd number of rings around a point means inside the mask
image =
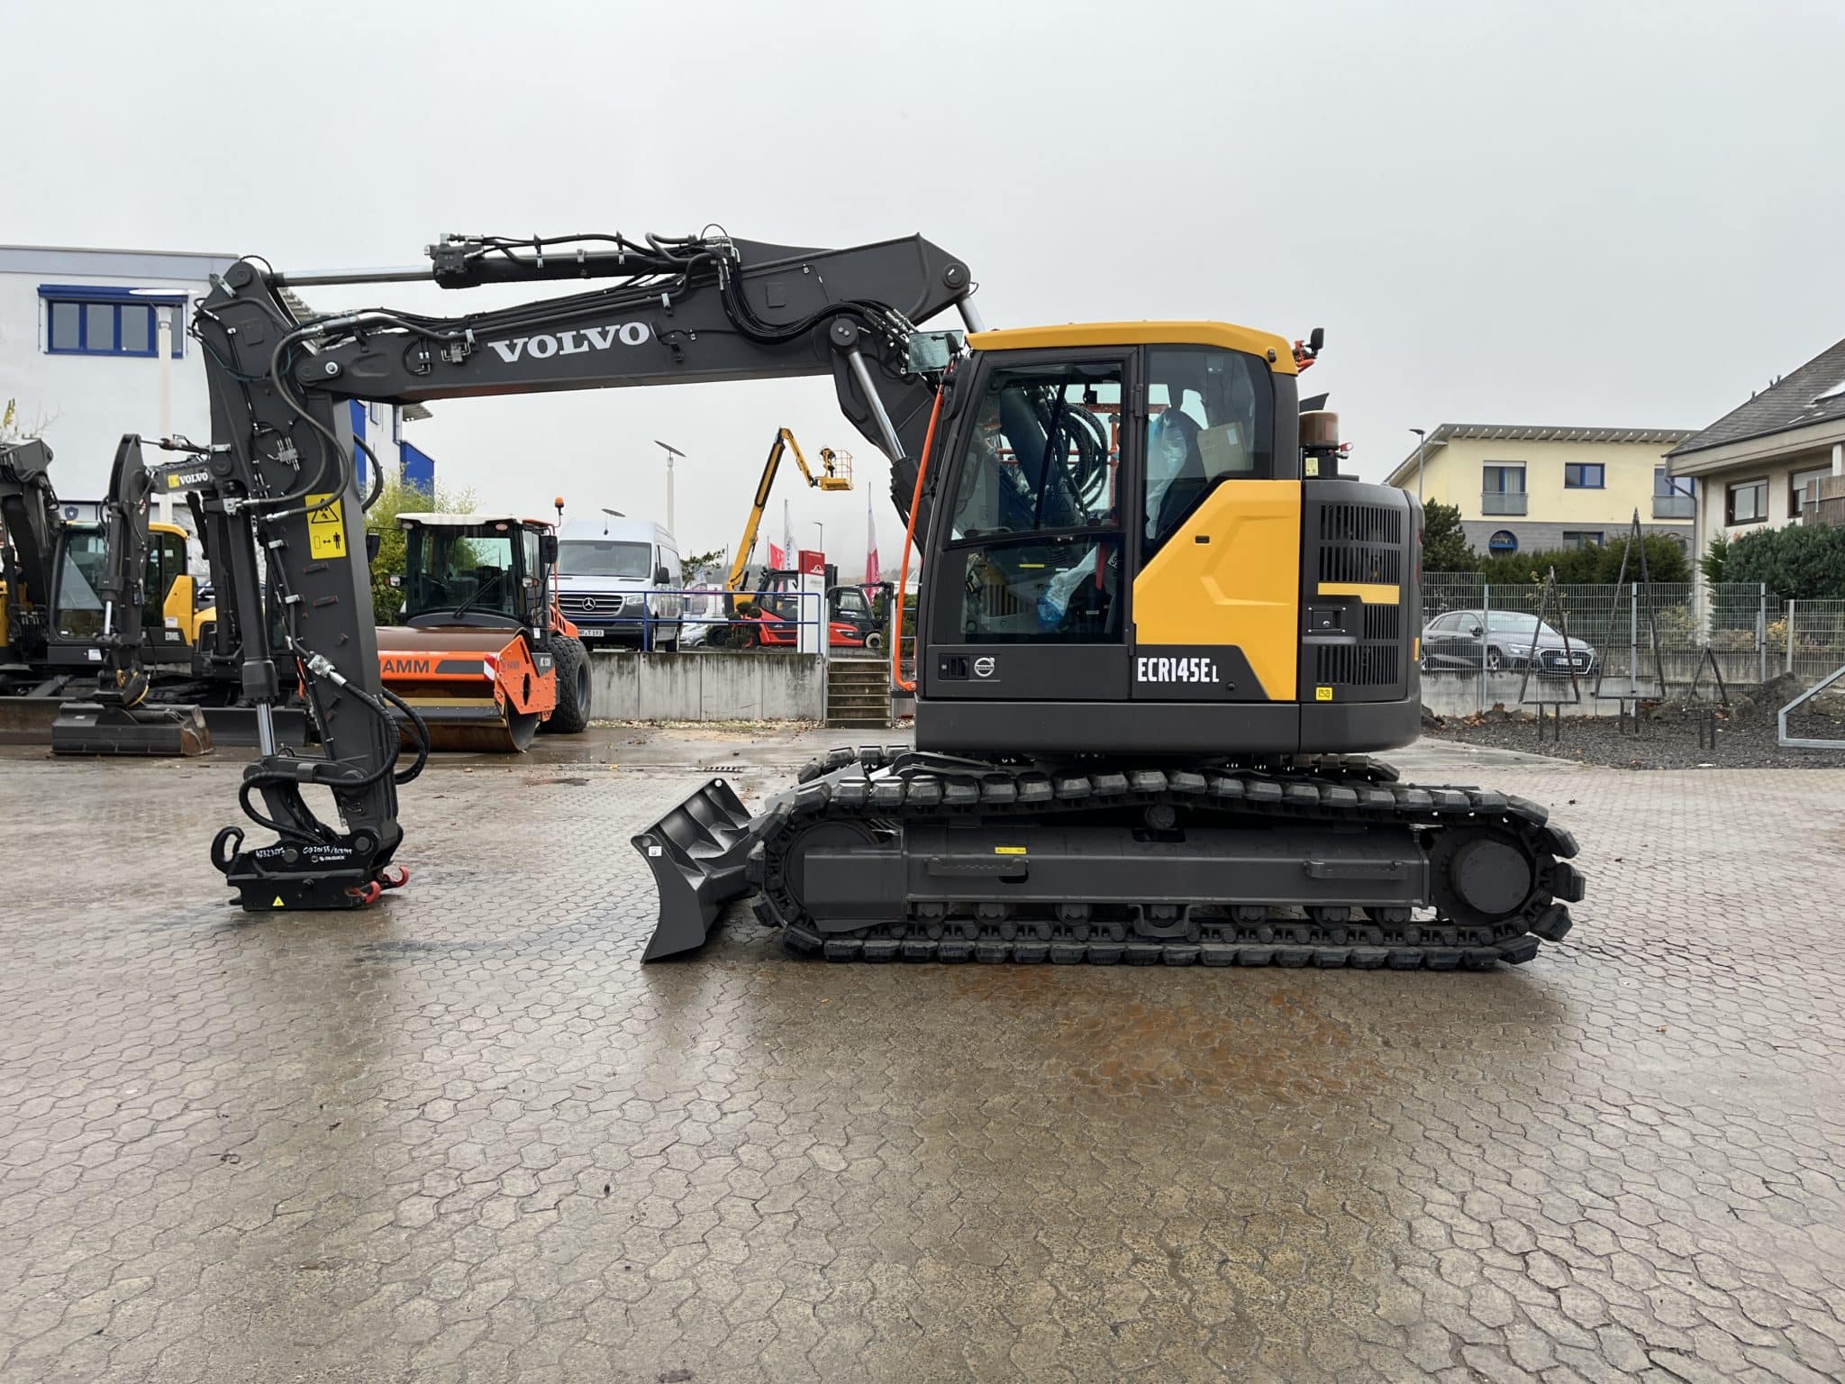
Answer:
MULTIPOLYGON (((192 251, 0 245, 0 413, 11 402, 13 430, 52 445, 63 498, 103 493, 124 432, 210 439, 205 369, 186 325, 210 277, 234 262, 192 251)), ((290 306, 306 312, 299 301, 290 306)), ((352 404, 352 432, 384 467, 434 489, 435 463, 404 439, 404 424, 423 417, 428 410, 417 404, 352 404)), ((172 519, 186 522, 183 509, 172 519)))

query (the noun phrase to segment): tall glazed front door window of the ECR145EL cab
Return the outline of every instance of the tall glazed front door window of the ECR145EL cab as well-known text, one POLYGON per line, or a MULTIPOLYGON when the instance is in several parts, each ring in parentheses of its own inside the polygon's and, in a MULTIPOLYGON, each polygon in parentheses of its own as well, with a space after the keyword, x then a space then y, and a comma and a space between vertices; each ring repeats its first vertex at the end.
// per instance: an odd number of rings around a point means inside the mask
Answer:
POLYGON ((941 638, 1120 642, 1122 378, 1118 360, 987 375, 941 559, 941 638))

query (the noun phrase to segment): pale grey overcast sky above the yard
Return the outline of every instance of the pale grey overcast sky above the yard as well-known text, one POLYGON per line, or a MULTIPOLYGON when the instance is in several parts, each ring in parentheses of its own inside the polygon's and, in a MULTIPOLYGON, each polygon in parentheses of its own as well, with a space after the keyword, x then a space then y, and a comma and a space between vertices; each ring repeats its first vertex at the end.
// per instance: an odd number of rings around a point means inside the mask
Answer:
MULTIPOLYGON (((13 0, 0 52, 0 242, 310 269, 443 231, 919 231, 993 327, 1325 327, 1308 391, 1365 478, 1443 421, 1703 426, 1845 336, 1836 2, 13 0)), ((780 424, 854 450, 889 561, 887 467, 827 380, 443 402, 410 435, 482 502, 659 517, 666 439, 694 552, 780 424)), ((862 561, 863 489, 779 493, 862 561)))

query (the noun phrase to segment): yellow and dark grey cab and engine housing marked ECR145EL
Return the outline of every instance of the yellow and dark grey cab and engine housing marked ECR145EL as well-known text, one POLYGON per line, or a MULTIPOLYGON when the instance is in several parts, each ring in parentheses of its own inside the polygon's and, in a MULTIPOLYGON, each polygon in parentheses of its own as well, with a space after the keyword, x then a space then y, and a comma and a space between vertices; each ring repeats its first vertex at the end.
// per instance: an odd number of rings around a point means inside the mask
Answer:
POLYGON ((1413 500, 1306 472, 1286 340, 1100 323, 969 345, 932 474, 919 749, 1415 738, 1413 500))

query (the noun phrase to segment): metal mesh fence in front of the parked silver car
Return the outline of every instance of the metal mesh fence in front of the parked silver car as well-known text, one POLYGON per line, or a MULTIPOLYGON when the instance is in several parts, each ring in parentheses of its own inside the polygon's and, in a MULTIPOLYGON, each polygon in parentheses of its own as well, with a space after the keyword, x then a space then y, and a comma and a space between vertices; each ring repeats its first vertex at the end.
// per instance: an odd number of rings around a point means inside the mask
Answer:
POLYGON ((1528 701, 1572 699, 1566 688, 1553 686, 1566 683, 1572 662, 1585 699, 1672 696, 1694 679, 1708 685, 1712 662, 1725 683, 1745 685, 1782 672, 1823 677, 1845 662, 1845 600, 1790 602, 1758 583, 1635 581, 1559 585, 1537 622, 1531 616, 1542 603, 1542 583, 1493 585, 1476 572, 1426 574, 1424 677, 1472 674, 1482 683, 1494 674, 1524 677, 1533 642, 1537 686, 1526 688, 1528 701), (1568 661, 1550 653, 1559 650, 1563 635, 1572 646, 1568 661))

